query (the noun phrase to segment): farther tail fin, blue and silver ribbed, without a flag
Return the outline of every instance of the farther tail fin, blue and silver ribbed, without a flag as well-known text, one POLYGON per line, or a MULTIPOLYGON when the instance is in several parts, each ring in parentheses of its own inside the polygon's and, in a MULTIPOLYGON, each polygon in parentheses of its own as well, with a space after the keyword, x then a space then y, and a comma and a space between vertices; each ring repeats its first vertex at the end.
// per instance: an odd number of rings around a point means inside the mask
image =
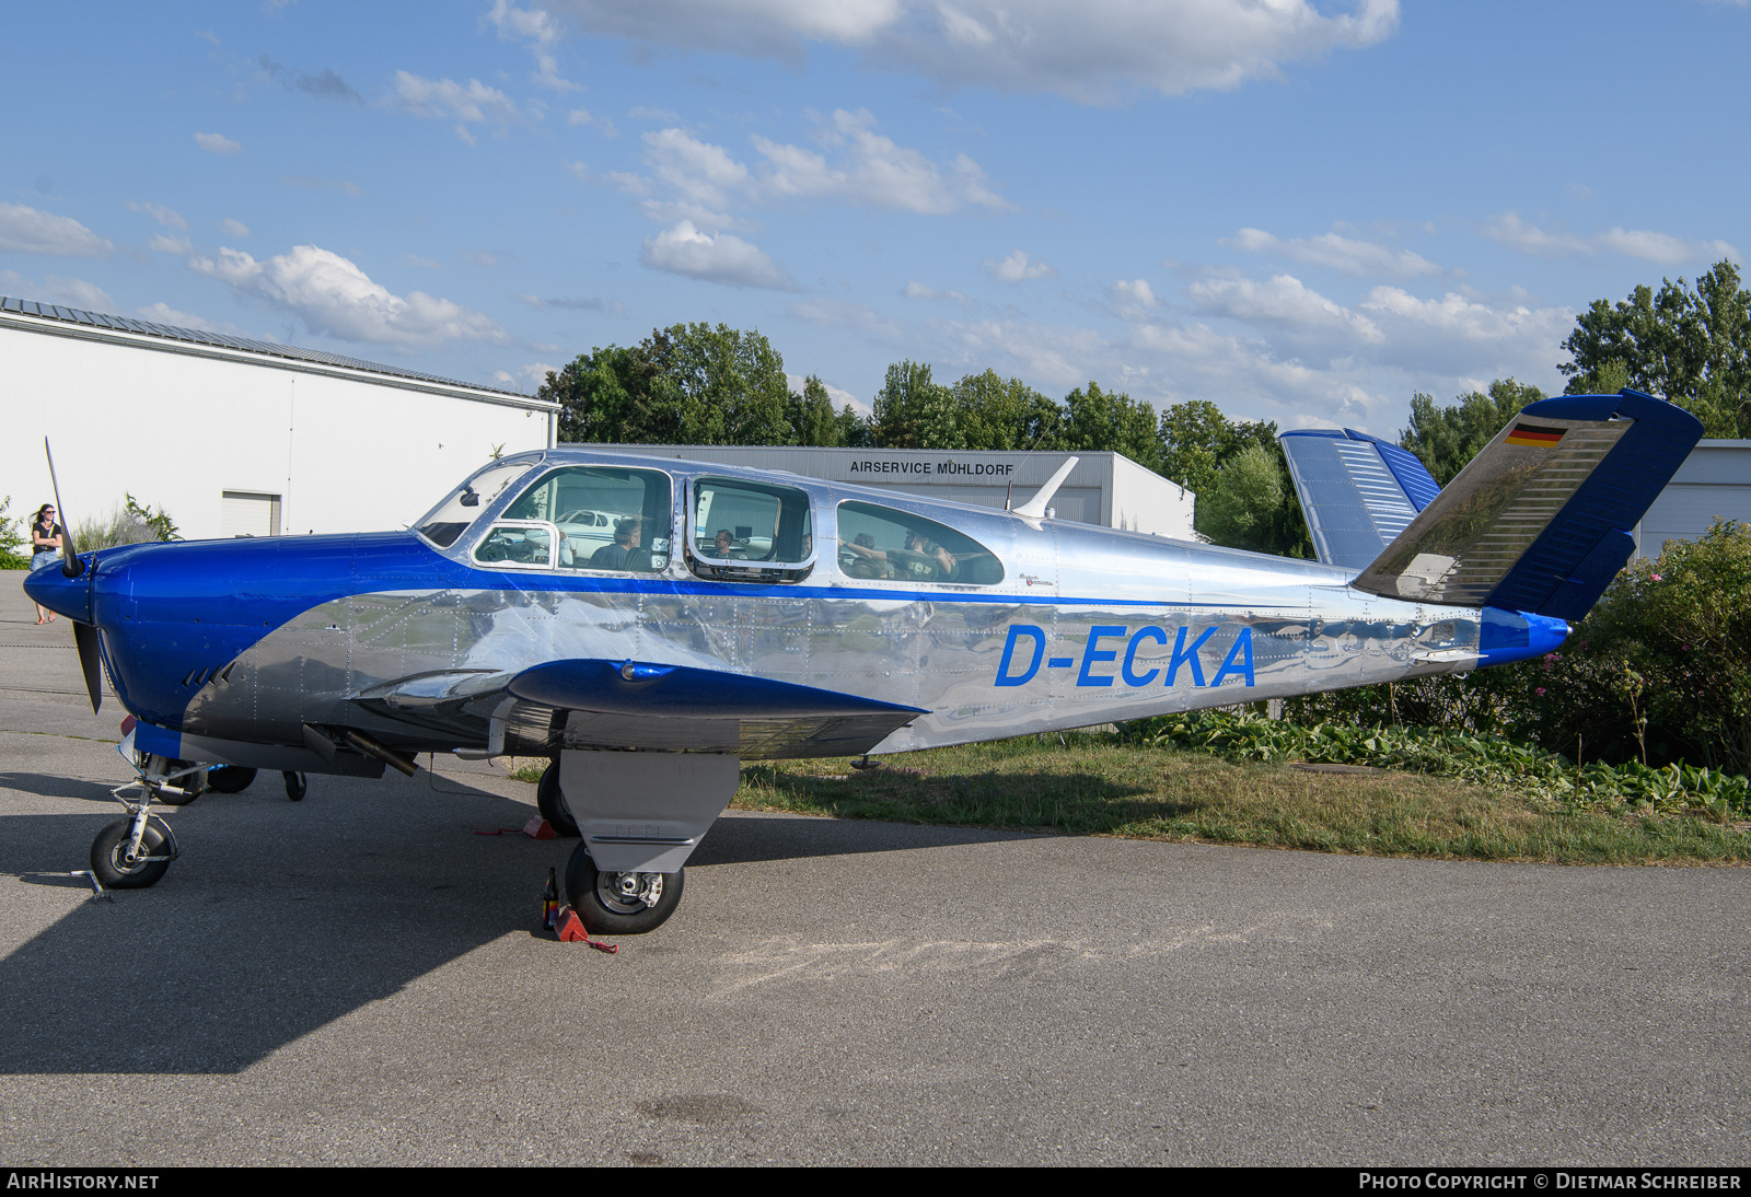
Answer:
POLYGON ((1304 429, 1278 441, 1313 551, 1327 565, 1362 569, 1441 494, 1415 455, 1355 429, 1304 429))

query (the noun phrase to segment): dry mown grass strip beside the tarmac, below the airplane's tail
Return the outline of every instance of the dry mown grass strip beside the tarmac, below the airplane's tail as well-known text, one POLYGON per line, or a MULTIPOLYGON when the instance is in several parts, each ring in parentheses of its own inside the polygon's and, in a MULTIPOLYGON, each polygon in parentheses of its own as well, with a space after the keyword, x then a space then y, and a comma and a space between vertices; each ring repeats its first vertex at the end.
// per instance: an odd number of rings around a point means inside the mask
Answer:
MULTIPOLYGON (((1072 733, 876 758, 748 761, 730 807, 1059 835, 1546 861, 1744 864, 1751 824, 1698 812, 1576 810, 1399 770, 1313 774, 1072 733)), ((538 780, 539 766, 517 774, 538 780)))

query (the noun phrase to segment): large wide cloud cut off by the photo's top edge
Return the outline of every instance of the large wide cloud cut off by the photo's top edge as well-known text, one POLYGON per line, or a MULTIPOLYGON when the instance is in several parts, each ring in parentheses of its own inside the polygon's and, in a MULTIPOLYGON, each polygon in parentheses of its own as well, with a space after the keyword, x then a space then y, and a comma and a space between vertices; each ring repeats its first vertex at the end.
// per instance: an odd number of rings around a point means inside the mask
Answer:
POLYGON ((1056 91, 1112 103, 1276 77, 1283 63, 1368 47, 1397 30, 1397 0, 550 0, 588 33, 798 60, 809 42, 946 86, 1056 91))

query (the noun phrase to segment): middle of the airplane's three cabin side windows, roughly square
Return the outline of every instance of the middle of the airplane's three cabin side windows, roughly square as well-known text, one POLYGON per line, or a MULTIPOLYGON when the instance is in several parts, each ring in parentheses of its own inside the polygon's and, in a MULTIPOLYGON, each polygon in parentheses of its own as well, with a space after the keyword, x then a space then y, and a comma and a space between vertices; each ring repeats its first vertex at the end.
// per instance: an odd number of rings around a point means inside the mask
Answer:
POLYGON ((795 486, 695 478, 688 567, 714 581, 802 581, 814 569, 814 516, 795 486))

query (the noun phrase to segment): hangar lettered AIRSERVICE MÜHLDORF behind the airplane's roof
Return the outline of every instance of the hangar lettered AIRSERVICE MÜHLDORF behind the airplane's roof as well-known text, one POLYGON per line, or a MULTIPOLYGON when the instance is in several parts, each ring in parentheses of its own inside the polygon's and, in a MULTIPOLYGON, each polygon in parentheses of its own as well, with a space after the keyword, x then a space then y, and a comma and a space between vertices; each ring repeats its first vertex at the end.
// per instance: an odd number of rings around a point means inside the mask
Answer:
MULTIPOLYGON (((804 478, 891 490, 919 499, 949 499, 1002 509, 1019 508, 1058 472, 1070 453, 770 448, 727 444, 604 444, 616 453, 685 457, 751 469, 788 469, 804 478)), ((1075 453, 1052 511, 1059 520, 1107 528, 1192 539, 1192 492, 1133 462, 1124 453, 1075 453)))

